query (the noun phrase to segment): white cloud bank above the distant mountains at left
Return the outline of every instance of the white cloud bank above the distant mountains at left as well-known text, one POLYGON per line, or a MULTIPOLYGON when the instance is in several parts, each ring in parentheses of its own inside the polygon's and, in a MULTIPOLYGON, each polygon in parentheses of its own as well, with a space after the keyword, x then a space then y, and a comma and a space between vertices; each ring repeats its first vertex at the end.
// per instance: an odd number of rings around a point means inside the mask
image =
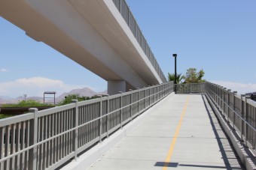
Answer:
POLYGON ((84 85, 69 85, 58 79, 32 77, 0 83, 0 96, 18 97, 28 94, 28 96, 43 97, 44 91, 56 91, 56 95, 59 96, 75 88, 84 88, 84 85))

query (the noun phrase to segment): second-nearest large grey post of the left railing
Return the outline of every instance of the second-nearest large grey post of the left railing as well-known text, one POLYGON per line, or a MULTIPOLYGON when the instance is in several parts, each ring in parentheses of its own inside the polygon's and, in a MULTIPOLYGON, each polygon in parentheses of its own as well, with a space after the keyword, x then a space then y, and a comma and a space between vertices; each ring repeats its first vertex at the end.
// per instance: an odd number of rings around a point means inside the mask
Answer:
MULTIPOLYGON (((78 100, 72 100, 72 103, 75 103, 74 108, 74 127, 78 127, 78 100)), ((75 129, 73 132, 73 148, 75 151, 75 160, 78 157, 78 129, 75 129)))

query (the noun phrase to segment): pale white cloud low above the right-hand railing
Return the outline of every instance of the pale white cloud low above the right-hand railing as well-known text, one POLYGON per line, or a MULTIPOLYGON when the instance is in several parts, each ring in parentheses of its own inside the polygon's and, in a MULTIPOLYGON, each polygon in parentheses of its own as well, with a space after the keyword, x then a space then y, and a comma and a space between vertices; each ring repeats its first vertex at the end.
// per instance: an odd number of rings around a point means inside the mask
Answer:
POLYGON ((217 85, 224 86, 224 88, 237 91, 238 94, 245 94, 256 91, 256 84, 245 84, 240 82, 225 82, 225 81, 211 81, 217 85))

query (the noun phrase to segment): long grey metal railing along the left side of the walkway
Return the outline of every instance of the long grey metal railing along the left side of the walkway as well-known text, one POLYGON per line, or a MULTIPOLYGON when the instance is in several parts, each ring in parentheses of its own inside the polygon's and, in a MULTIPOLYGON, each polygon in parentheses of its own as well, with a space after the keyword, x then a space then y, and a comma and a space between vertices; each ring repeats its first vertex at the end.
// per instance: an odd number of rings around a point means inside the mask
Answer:
POLYGON ((173 91, 166 82, 0 121, 0 169, 56 169, 173 91))

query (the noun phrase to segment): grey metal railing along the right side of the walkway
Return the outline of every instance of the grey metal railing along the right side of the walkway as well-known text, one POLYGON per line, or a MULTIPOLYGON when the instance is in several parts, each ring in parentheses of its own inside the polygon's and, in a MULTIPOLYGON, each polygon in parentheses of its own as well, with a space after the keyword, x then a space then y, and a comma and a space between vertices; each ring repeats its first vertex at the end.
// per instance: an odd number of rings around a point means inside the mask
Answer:
POLYGON ((256 103, 250 96, 238 95, 220 85, 206 83, 206 94, 236 130, 245 146, 256 148, 256 103))

